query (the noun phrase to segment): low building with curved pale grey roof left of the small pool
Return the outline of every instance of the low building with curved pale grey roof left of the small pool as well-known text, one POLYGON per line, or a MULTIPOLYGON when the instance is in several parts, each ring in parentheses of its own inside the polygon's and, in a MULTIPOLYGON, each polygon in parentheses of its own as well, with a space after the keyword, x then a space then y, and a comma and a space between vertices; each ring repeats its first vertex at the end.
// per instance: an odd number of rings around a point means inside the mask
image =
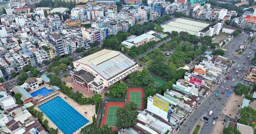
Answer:
POLYGON ((23 103, 29 103, 31 102, 34 98, 29 94, 28 91, 26 91, 23 87, 21 86, 15 86, 12 88, 12 91, 14 91, 15 94, 20 93, 22 96, 20 100, 23 101, 23 103))

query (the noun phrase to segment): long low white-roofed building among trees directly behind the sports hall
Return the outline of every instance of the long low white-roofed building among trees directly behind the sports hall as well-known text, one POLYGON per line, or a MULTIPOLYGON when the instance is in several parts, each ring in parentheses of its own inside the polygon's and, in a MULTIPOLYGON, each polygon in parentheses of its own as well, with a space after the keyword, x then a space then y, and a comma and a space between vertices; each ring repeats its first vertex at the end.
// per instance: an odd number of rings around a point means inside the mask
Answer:
POLYGON ((140 36, 131 35, 127 38, 127 40, 122 42, 122 45, 124 45, 127 48, 131 48, 133 46, 143 46, 145 43, 155 40, 155 36, 151 34, 142 34, 140 36))

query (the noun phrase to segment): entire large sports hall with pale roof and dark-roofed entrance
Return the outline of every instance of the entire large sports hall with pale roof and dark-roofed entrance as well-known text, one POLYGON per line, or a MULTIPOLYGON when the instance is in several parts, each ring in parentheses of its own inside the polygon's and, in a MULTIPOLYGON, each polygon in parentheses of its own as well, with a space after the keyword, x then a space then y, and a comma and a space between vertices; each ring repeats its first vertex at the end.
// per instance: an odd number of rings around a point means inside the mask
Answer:
POLYGON ((138 70, 138 64, 119 51, 103 49, 73 61, 71 76, 84 90, 100 94, 105 88, 124 80, 138 70))

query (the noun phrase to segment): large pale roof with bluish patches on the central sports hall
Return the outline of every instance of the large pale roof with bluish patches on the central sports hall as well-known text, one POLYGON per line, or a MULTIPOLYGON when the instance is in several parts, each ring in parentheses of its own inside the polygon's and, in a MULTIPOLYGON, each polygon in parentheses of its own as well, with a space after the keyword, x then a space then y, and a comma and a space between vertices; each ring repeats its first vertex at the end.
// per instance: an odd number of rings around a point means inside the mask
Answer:
POLYGON ((93 68, 106 80, 115 77, 117 74, 136 64, 121 52, 108 49, 90 54, 75 62, 90 66, 90 68, 93 68))

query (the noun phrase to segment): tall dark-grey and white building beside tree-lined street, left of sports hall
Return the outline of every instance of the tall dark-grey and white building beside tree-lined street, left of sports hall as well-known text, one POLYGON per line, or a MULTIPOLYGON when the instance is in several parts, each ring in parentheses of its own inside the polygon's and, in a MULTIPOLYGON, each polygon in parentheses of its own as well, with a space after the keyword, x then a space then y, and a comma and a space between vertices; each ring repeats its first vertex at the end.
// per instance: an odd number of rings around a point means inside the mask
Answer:
POLYGON ((58 56, 65 55, 62 38, 58 34, 49 35, 49 39, 47 41, 52 46, 56 55, 58 55, 58 56))

